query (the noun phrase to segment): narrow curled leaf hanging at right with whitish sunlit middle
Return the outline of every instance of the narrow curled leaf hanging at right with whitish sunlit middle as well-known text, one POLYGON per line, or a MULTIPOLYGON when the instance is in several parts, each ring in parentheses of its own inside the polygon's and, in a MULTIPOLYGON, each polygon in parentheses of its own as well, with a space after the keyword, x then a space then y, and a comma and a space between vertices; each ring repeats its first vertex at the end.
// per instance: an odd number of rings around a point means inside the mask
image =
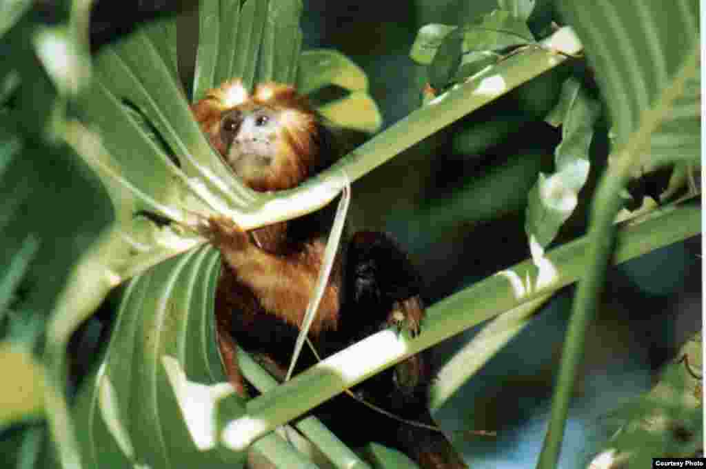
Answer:
POLYGON ((600 106, 587 95, 578 81, 569 78, 552 112, 562 122, 561 143, 554 151, 555 172, 539 173, 527 201, 525 232, 546 247, 578 204, 578 193, 586 183, 591 162, 588 150, 600 106), (561 112, 564 114, 561 115, 561 112))

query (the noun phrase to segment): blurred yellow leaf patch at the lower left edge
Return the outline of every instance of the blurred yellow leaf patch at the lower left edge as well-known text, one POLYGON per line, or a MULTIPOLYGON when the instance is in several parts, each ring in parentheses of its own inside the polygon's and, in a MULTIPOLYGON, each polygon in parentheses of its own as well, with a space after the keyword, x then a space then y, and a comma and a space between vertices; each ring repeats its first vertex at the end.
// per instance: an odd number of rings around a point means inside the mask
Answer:
POLYGON ((0 369, 8 379, 0 388, 0 427, 42 417, 44 369, 31 350, 13 343, 0 343, 0 369))

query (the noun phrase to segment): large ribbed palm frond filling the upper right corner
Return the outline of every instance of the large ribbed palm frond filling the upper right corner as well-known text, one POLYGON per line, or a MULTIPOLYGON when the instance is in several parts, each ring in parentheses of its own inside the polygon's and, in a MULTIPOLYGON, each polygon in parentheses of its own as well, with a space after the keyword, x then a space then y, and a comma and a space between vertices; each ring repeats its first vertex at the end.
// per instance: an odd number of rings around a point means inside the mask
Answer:
POLYGON ((638 136, 650 148, 640 166, 693 160, 700 148, 700 65, 690 65, 686 83, 674 80, 699 47, 698 1, 681 0, 669 8, 655 2, 609 1, 589 8, 566 4, 562 9, 596 71, 611 114, 614 148, 623 148, 640 125, 654 122, 657 129, 638 136), (674 100, 662 105, 673 93, 674 100))

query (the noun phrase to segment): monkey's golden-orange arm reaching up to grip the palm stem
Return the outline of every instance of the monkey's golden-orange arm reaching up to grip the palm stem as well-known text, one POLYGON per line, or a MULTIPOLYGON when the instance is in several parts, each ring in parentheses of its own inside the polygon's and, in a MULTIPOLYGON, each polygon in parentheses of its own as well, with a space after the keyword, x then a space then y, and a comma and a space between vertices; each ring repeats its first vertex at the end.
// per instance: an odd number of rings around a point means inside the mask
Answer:
MULTIPOLYGON (((318 278, 325 245, 320 240, 300 252, 270 254, 251 243, 246 232, 225 218, 212 218, 211 242, 223 256, 237 281, 253 292, 261 307, 293 326, 301 326, 306 306, 318 278)), ((340 288, 333 280, 325 287, 311 333, 335 328, 340 308, 340 288)))

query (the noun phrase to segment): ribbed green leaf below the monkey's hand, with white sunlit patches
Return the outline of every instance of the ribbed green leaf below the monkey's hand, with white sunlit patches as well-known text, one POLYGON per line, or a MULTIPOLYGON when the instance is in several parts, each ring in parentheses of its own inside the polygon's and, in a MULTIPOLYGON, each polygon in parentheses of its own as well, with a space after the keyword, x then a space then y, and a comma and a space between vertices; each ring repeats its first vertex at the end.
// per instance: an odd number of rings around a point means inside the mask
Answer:
POLYGON ((85 381, 75 411, 86 467, 241 463, 244 455, 218 444, 218 402, 234 393, 223 383, 216 348, 218 273, 219 254, 205 247, 131 281, 102 364, 85 381))

